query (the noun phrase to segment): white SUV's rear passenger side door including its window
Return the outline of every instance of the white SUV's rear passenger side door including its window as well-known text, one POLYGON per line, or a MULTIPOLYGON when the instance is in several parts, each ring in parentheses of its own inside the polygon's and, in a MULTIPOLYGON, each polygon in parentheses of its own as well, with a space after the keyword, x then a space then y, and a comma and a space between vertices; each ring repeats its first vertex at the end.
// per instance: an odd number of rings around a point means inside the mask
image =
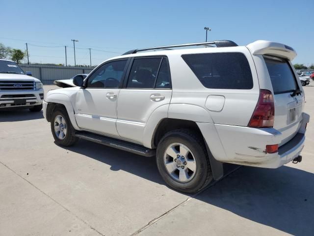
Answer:
POLYGON ((116 125, 122 138, 142 144, 152 113, 157 111, 161 117, 168 116, 172 94, 168 59, 134 58, 128 74, 118 96, 116 125))

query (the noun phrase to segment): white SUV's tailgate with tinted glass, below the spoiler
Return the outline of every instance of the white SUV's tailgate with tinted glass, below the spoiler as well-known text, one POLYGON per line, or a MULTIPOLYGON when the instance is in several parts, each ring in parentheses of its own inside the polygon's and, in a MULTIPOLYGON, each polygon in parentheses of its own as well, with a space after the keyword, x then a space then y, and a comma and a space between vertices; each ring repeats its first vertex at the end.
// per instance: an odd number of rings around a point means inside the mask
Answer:
POLYGON ((297 83, 287 59, 263 56, 274 91, 274 128, 283 134, 280 145, 287 143, 299 130, 302 121, 304 93, 297 83), (301 93, 296 94, 296 89, 301 93))

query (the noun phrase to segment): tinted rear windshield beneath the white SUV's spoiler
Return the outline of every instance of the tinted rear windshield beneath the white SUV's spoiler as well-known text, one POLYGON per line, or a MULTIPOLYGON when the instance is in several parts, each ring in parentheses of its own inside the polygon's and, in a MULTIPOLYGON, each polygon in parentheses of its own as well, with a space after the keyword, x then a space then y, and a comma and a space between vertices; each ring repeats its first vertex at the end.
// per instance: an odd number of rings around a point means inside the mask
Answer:
POLYGON ((272 56, 263 57, 273 86, 274 94, 291 92, 297 89, 294 73, 287 60, 272 56))

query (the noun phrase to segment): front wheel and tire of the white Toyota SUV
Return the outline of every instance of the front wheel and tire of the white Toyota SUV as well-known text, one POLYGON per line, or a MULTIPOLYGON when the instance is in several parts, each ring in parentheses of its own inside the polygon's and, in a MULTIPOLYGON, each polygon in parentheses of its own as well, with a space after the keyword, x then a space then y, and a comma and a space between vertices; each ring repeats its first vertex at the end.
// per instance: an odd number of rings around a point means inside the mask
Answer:
POLYGON ((50 124, 52 136, 57 145, 68 147, 78 141, 78 138, 74 135, 74 128, 65 109, 55 110, 52 113, 50 124), (55 128, 55 126, 58 126, 59 132, 56 131, 58 128, 55 128))

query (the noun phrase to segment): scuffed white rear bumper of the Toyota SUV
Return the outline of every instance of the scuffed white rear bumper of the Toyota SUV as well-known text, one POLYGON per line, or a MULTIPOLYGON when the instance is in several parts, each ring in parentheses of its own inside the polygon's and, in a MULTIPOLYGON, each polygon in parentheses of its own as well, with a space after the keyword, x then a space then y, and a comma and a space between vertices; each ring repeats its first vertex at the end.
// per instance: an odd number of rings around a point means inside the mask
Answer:
POLYGON ((203 135, 205 134, 204 138, 216 160, 238 165, 278 168, 297 157, 304 148, 305 127, 310 116, 305 113, 302 116, 300 128, 294 137, 281 146, 276 153, 265 151, 266 145, 281 143, 282 134, 276 129, 215 124, 217 137, 213 139, 206 135, 204 125, 199 125, 199 127, 203 135), (220 144, 214 140, 220 141, 220 144), (214 145, 212 145, 213 142, 215 142, 214 145), (217 149, 219 147, 220 150, 217 149))

